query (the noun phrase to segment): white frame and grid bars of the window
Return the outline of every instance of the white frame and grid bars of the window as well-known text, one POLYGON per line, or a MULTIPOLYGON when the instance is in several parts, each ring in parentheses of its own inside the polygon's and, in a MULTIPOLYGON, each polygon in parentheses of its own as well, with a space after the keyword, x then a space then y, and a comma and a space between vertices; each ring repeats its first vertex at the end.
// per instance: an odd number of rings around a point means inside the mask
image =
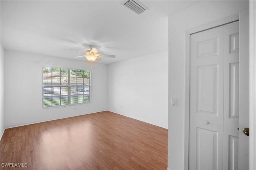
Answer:
MULTIPOLYGON (((54 67, 54 66, 42 66, 42 108, 43 109, 47 109, 47 108, 53 108, 53 107, 64 107, 64 106, 74 106, 74 105, 80 105, 80 104, 88 104, 88 103, 91 103, 91 95, 92 95, 92 90, 91 90, 91 82, 92 82, 92 70, 85 70, 85 69, 79 69, 79 68, 65 68, 65 67, 54 67), (50 68, 50 70, 51 70, 51 85, 44 85, 44 68, 50 68), (53 71, 52 71, 52 69, 53 68, 56 68, 56 69, 60 69, 60 85, 54 85, 53 84, 53 81, 52 81, 52 79, 53 79, 53 77, 58 77, 58 76, 53 76, 53 71), (66 77, 66 78, 68 78, 68 84, 67 85, 62 85, 61 84, 61 78, 62 77, 65 77, 65 76, 62 76, 61 75, 61 69, 66 69, 66 70, 68 70, 68 76, 66 77), (88 78, 88 80, 89 80, 89 83, 88 83, 88 85, 85 85, 85 82, 84 82, 84 78, 85 77, 83 77, 83 85, 80 85, 80 84, 78 84, 78 75, 76 75, 75 77, 76 77, 76 84, 74 85, 74 84, 71 84, 71 81, 70 81, 70 77, 72 77, 72 75, 73 74, 71 74, 71 70, 82 70, 82 71, 89 71, 89 78, 88 78), (71 92, 72 92, 72 87, 73 87, 73 92, 74 92, 74 88, 76 89, 76 94, 72 94, 71 92), (85 87, 88 87, 89 88, 89 90, 87 91, 87 93, 85 93, 84 92, 84 90, 82 91, 81 90, 81 92, 83 92, 82 94, 78 94, 78 87, 82 87, 83 89, 85 88, 85 87), (54 94, 54 92, 50 92, 50 94, 51 95, 49 95, 49 96, 45 96, 44 94, 44 88, 60 88, 60 94, 59 95, 53 95, 54 94), (67 91, 67 94, 66 95, 62 95, 61 94, 61 89, 62 88, 68 88, 68 91, 67 91), (86 97, 86 96, 88 96, 88 101, 87 102, 81 102, 81 100, 80 101, 78 101, 78 96, 82 96, 83 97, 83 99, 82 100, 84 100, 84 98, 86 97), (49 97, 49 98, 51 98, 51 105, 50 106, 44 106, 44 102, 45 102, 45 98, 47 98, 47 97, 49 97), (56 98, 59 98, 59 100, 60 100, 60 104, 58 104, 58 105, 53 105, 54 103, 53 103, 53 97, 56 97, 56 98), (67 104, 64 102, 64 104, 62 104, 62 101, 61 101, 61 98, 67 98, 67 104), (76 103, 72 103, 72 97, 75 97, 76 98, 76 103)), ((73 98, 73 100, 74 100, 74 98, 73 98)), ((85 101, 85 100, 84 100, 85 101)))

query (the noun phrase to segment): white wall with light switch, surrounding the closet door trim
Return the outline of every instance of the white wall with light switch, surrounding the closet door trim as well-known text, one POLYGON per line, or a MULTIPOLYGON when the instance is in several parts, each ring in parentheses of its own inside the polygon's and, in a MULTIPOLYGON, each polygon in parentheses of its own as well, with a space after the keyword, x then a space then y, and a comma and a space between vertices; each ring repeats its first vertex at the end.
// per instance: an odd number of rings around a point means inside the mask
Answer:
POLYGON ((185 32, 188 29, 238 14, 248 8, 248 1, 202 1, 168 18, 169 35, 169 100, 177 98, 177 106, 168 106, 168 169, 184 169, 185 111, 185 32), (179 130, 177 131, 177 127, 179 130))

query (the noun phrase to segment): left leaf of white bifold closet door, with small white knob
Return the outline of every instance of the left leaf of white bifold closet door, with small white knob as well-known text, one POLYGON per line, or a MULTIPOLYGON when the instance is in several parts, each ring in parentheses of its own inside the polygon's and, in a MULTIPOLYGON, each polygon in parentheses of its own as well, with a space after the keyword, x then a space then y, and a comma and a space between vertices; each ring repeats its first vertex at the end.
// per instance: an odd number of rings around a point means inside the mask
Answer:
POLYGON ((190 37, 190 170, 222 169, 224 29, 190 37))

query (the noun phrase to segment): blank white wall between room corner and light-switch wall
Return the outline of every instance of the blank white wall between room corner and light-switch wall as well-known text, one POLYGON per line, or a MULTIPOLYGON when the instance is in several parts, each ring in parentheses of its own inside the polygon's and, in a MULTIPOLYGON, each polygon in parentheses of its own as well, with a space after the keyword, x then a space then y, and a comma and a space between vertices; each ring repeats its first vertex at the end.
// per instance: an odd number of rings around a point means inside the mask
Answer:
POLYGON ((168 52, 108 65, 108 110, 168 128, 168 52))

